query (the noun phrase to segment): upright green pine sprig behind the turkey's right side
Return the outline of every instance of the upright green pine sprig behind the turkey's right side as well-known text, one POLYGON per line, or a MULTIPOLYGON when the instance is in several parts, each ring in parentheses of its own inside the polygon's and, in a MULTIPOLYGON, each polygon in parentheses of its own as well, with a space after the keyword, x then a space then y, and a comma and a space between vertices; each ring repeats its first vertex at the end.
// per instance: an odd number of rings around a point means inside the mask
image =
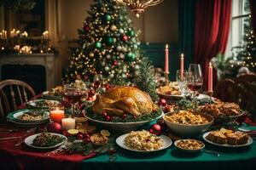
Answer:
POLYGON ((156 82, 154 82, 154 66, 145 57, 142 59, 135 83, 137 88, 148 93, 154 101, 159 99, 156 94, 156 82))

